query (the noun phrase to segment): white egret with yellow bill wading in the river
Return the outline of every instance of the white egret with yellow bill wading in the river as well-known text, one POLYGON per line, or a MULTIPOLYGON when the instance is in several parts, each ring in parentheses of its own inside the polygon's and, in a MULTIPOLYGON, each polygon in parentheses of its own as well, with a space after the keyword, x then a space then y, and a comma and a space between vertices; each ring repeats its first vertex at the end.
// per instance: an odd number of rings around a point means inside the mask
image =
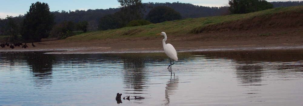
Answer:
POLYGON ((169 43, 168 44, 165 43, 165 41, 167 40, 167 36, 166 36, 165 32, 159 33, 157 35, 163 35, 164 36, 164 39, 162 41, 162 43, 163 43, 163 49, 164 49, 165 54, 169 57, 169 61, 170 61, 170 65, 167 68, 171 69, 171 65, 172 65, 171 64, 171 59, 173 61, 173 64, 175 64, 175 61, 178 61, 177 51, 174 48, 174 46, 172 46, 169 43))

